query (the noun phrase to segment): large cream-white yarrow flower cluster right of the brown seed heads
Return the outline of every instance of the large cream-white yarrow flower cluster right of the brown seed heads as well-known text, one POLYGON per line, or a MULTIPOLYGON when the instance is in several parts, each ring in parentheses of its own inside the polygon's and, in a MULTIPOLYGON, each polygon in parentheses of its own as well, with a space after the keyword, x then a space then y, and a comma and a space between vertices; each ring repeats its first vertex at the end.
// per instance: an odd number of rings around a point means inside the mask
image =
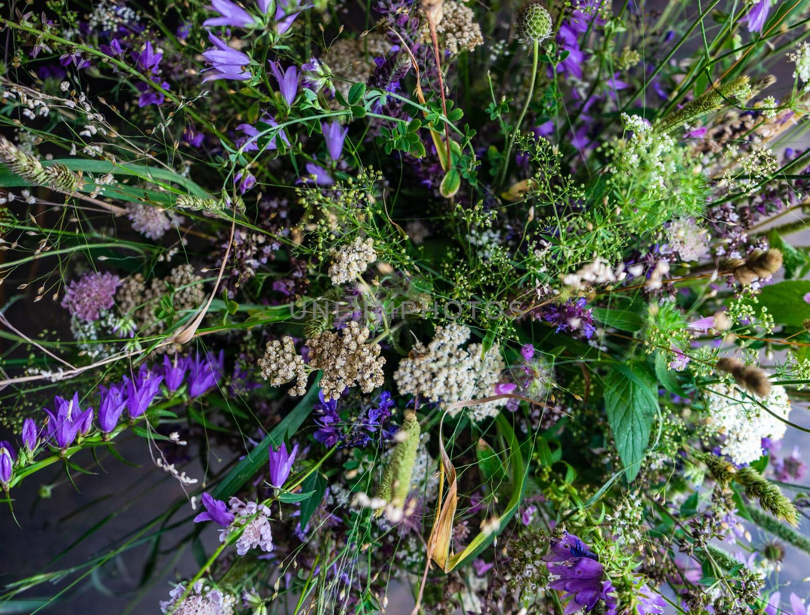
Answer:
MULTIPOLYGON (((462 348, 469 338, 470 329, 451 323, 437 327, 428 346, 417 341, 394 372, 399 392, 445 404, 494 395, 505 367, 498 346, 492 346, 482 357, 480 344, 462 348)), ((503 400, 473 405, 469 408, 470 416, 475 421, 494 417, 503 405, 503 400)), ((449 414, 455 416, 458 409, 449 414)))

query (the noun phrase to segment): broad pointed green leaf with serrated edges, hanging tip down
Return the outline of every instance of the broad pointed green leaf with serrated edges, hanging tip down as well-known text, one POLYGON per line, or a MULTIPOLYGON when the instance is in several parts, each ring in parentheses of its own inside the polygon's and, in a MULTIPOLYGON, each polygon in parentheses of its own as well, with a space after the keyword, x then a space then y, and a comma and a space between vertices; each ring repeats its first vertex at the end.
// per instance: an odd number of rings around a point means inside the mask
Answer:
POLYGON ((605 411, 627 479, 632 481, 641 469, 650 443, 658 399, 654 383, 641 365, 614 363, 609 369, 605 378, 605 411))

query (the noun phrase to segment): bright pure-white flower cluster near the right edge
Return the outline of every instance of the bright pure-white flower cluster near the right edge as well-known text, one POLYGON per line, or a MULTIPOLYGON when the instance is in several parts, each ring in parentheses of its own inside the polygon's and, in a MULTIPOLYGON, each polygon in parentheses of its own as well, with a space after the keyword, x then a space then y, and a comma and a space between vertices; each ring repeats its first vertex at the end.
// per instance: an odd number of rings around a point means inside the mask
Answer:
POLYGON ((743 397, 739 388, 731 384, 712 384, 706 397, 711 428, 723 439, 720 452, 731 457, 735 464, 750 464, 762 456, 762 439, 781 440, 786 425, 777 417, 787 419, 791 414, 791 401, 784 387, 774 386, 762 404, 770 414, 751 397, 743 397))

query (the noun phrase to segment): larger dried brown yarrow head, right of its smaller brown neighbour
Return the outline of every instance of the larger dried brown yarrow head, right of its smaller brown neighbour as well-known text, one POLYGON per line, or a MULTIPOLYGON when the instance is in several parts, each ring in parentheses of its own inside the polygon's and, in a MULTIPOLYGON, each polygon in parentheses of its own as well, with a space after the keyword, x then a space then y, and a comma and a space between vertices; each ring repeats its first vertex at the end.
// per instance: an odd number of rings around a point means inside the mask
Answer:
POLYGON ((380 356, 379 344, 365 343, 370 334, 352 320, 339 333, 324 331, 306 341, 309 365, 323 370, 321 389, 326 401, 337 399, 354 384, 364 393, 382 386, 386 359, 380 356))

